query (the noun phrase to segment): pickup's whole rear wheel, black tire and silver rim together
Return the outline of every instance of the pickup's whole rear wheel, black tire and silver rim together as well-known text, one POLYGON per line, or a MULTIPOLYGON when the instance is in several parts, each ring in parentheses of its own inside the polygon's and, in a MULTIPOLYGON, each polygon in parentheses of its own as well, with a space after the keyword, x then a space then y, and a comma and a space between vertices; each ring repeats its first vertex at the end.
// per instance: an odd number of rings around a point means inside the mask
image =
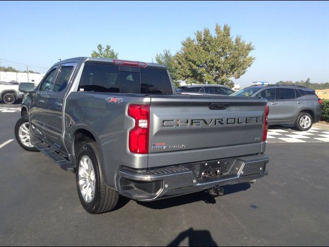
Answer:
POLYGON ((102 214, 115 208, 119 193, 105 185, 96 143, 79 150, 76 166, 77 189, 83 208, 90 214, 102 214))

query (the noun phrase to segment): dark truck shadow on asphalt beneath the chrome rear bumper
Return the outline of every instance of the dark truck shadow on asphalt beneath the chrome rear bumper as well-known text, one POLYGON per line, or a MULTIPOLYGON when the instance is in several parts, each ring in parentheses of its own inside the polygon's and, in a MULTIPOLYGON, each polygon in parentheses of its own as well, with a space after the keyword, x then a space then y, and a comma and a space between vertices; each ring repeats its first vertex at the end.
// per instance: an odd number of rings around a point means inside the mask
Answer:
MULTIPOLYGON (((250 184, 235 184, 235 185, 227 185, 224 186, 224 197, 225 195, 229 195, 231 193, 236 193, 239 191, 245 191, 250 188, 250 184)), ((163 199, 159 201, 153 201, 153 202, 140 202, 137 201, 138 204, 149 207, 152 209, 164 209, 164 208, 170 208, 170 207, 176 207, 180 205, 185 205, 193 202, 198 201, 204 201, 207 204, 215 204, 216 199, 213 196, 210 196, 209 193, 206 191, 200 191, 196 193, 191 193, 184 196, 179 197, 173 197, 168 199, 163 199)))

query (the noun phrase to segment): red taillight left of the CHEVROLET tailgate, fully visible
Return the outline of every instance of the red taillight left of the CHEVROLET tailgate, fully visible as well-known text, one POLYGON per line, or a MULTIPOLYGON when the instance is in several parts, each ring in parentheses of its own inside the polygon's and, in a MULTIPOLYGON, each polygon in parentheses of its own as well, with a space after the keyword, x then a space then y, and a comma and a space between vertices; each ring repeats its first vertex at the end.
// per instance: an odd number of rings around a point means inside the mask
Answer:
POLYGON ((128 115, 135 120, 135 127, 129 132, 129 150, 138 154, 149 153, 150 106, 131 104, 128 115))

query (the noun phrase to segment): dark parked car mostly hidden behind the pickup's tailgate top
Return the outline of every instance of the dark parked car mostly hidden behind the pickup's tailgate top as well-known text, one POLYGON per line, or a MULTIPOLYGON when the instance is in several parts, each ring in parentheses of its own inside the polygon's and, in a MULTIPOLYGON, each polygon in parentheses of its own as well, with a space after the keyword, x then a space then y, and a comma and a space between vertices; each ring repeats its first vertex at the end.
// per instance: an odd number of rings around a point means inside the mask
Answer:
POLYGON ((233 90, 223 85, 194 85, 194 86, 180 86, 176 89, 177 93, 187 93, 195 95, 207 95, 207 94, 218 94, 218 95, 230 95, 234 93, 233 90))

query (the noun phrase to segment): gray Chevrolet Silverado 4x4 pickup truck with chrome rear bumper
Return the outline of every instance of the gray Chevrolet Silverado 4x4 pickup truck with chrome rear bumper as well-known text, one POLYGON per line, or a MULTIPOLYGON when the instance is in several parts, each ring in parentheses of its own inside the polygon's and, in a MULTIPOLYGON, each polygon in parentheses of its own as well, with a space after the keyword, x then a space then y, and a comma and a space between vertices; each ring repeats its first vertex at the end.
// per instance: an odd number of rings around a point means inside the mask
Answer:
POLYGON ((176 95, 153 63, 73 58, 28 93, 17 142, 76 173, 83 207, 113 210, 119 196, 153 201, 264 177, 266 99, 176 95))

